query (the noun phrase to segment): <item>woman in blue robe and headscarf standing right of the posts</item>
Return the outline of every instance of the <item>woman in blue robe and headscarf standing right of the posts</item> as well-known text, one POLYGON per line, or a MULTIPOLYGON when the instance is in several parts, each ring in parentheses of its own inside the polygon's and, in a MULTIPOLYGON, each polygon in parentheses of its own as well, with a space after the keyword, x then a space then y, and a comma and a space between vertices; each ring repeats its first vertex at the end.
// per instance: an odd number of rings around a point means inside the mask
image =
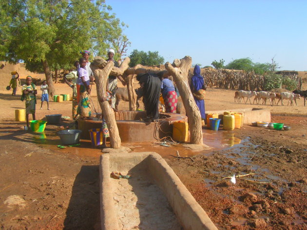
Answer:
POLYGON ((195 65, 193 73, 194 75, 191 79, 192 94, 194 96, 195 103, 199 108, 201 118, 205 120, 205 95, 203 90, 206 90, 207 86, 204 83, 204 78, 200 75, 200 67, 198 65, 195 65))

